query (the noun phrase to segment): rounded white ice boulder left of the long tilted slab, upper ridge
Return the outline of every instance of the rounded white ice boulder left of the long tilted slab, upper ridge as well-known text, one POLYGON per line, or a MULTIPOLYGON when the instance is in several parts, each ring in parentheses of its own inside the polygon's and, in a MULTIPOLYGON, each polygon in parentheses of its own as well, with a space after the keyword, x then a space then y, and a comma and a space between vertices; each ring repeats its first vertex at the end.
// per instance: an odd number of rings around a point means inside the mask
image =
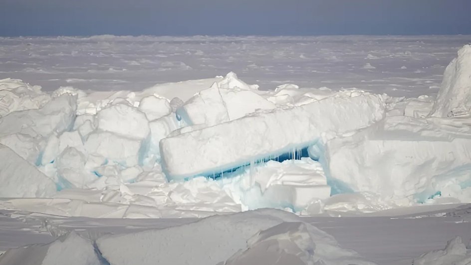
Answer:
POLYGON ((97 129, 127 138, 144 139, 149 135, 149 123, 144 112, 118 103, 102 109, 96 117, 97 129))

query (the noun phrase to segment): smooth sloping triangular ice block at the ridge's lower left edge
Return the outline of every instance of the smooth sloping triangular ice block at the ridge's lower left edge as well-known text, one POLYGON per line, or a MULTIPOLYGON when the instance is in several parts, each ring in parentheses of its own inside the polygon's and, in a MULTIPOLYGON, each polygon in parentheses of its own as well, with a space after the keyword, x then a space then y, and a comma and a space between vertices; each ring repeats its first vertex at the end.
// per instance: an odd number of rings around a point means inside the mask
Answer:
POLYGON ((0 197, 50 197, 54 182, 10 148, 0 144, 0 197))

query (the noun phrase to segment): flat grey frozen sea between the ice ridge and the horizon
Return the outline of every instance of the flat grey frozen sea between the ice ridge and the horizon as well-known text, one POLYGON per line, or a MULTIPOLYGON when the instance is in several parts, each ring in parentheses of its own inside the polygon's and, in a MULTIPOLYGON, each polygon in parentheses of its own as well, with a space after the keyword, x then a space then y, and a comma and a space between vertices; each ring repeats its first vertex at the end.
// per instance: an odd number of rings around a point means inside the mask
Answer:
POLYGON ((114 91, 234 71, 262 90, 293 83, 417 97, 438 92, 445 67, 470 42, 470 35, 3 37, 0 77, 46 91, 114 91))

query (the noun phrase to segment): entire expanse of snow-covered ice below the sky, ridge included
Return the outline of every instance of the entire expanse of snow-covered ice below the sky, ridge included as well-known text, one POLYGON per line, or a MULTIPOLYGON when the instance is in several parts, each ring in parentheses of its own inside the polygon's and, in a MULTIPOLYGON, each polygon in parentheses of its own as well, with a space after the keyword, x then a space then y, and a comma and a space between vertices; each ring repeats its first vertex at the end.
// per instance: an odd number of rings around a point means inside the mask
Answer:
POLYGON ((471 36, 0 38, 0 265, 470 265, 471 36))

